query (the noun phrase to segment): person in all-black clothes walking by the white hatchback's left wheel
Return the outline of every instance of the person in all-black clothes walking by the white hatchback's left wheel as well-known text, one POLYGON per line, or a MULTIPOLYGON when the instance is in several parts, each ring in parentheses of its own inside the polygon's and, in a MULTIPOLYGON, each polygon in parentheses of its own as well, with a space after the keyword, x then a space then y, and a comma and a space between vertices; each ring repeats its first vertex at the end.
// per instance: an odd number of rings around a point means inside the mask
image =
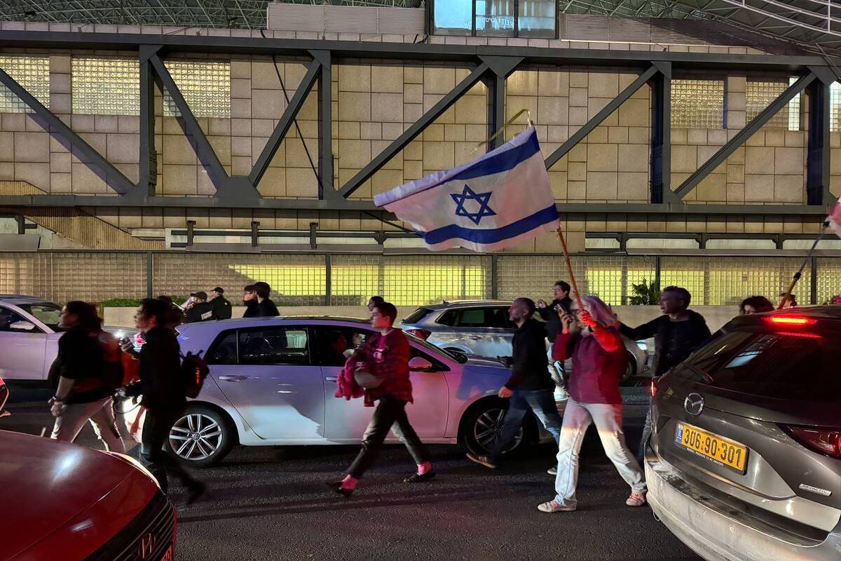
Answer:
POLYGON ((181 356, 176 332, 166 327, 167 304, 158 299, 144 299, 135 314, 135 325, 143 331, 145 343, 140 347, 140 382, 127 389, 127 394, 143 395, 140 404, 146 409, 140 437, 140 460, 167 493, 167 473, 187 487, 187 504, 204 494, 204 483, 193 479, 164 452, 170 429, 187 404, 186 381, 182 377, 181 356))

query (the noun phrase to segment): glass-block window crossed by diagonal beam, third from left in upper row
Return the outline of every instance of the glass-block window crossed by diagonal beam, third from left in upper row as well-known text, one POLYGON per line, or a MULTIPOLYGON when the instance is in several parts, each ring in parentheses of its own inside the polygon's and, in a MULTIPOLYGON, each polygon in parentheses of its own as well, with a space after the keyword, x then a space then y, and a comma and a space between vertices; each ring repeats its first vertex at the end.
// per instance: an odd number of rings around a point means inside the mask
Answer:
MULTIPOLYGON (((167 70, 196 117, 230 118, 230 62, 167 61, 167 70)), ((169 92, 164 92, 163 114, 180 113, 169 92)))

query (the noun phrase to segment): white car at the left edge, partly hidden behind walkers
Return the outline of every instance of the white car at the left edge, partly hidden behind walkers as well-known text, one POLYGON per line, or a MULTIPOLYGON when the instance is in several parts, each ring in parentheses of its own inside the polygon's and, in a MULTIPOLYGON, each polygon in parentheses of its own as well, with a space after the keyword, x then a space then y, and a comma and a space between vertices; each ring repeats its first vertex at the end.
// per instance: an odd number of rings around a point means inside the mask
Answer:
MULTIPOLYGON (((55 302, 0 294, 0 376, 6 380, 49 382, 50 366, 58 354, 61 306, 55 302)), ((119 327, 106 327, 120 336, 119 327)))

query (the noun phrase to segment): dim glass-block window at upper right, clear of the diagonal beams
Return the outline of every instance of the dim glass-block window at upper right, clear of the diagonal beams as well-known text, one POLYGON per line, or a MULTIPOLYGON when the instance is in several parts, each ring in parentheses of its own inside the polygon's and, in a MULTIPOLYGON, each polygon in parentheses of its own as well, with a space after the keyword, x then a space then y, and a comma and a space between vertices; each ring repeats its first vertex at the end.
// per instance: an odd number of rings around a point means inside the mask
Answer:
POLYGON ((671 88, 672 128, 724 127, 723 80, 672 80, 671 88))

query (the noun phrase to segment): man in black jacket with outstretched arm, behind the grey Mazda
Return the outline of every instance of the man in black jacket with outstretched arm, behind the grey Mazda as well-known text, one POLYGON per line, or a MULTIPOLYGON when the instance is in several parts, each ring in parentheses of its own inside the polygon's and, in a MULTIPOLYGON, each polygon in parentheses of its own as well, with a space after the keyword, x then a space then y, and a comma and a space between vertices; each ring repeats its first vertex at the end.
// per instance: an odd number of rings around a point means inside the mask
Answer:
MULTIPOLYGON (((632 341, 654 338, 654 376, 662 376, 685 361, 701 343, 710 336, 704 316, 688 310, 692 295, 686 288, 667 286, 660 293, 660 311, 656 320, 638 326, 621 324, 621 333, 632 341)), ((645 457, 645 445, 651 437, 651 410, 645 417, 643 437, 640 440, 637 458, 645 457)))

